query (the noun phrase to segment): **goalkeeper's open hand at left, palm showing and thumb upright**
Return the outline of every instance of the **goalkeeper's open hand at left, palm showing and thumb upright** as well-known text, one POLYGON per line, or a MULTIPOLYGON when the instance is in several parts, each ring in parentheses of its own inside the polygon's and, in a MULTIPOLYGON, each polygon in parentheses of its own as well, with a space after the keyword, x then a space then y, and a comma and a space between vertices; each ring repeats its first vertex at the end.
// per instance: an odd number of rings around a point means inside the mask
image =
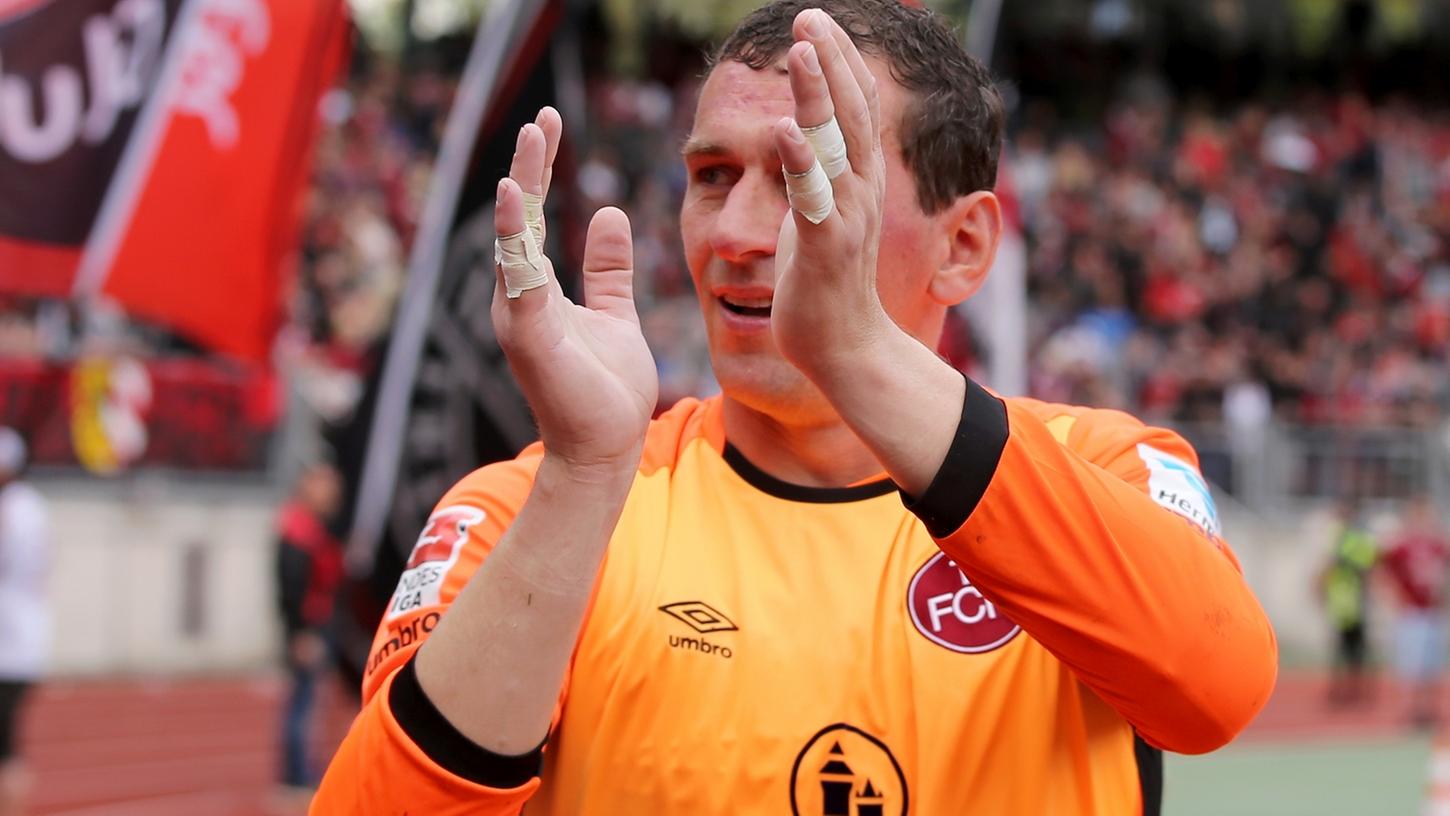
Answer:
MULTIPOLYGON (((519 130, 509 177, 499 183, 494 226, 523 230, 522 191, 548 193, 563 122, 545 107, 519 130)), ((584 242, 584 306, 564 297, 552 262, 548 284, 516 299, 503 272, 493 294, 493 326, 538 420, 548 457, 576 475, 634 472, 660 380, 634 304, 634 239, 615 207, 594 213, 584 242)))

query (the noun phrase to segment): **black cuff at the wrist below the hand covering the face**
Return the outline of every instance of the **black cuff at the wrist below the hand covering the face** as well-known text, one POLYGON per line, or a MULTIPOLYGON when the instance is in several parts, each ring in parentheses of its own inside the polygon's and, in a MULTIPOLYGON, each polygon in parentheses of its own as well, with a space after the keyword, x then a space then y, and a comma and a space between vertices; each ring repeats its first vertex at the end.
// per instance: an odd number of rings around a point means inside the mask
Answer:
POLYGON ((1006 404, 969 378, 961 422, 941 470, 919 499, 902 493, 902 503, 932 538, 947 538, 972 517, 996 475, 1006 436, 1006 404))

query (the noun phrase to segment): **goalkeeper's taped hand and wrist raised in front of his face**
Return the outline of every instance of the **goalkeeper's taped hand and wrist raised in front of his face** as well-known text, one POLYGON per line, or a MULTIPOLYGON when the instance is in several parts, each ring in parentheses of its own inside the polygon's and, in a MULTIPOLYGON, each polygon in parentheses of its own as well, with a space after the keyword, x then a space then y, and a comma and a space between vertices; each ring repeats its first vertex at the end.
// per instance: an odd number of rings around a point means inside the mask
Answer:
MULTIPOLYGON (((796 201, 776 245, 771 333, 896 484, 921 496, 951 446, 966 381, 892 320, 876 290, 886 199, 876 75, 825 12, 802 12, 793 30, 786 70, 796 110, 774 125, 774 138, 796 201), (789 175, 816 164, 800 128, 832 116, 850 167, 829 180, 834 206, 816 210, 811 193, 824 193, 824 184, 792 183, 789 175)), ((831 158, 822 149, 822 162, 831 158)))

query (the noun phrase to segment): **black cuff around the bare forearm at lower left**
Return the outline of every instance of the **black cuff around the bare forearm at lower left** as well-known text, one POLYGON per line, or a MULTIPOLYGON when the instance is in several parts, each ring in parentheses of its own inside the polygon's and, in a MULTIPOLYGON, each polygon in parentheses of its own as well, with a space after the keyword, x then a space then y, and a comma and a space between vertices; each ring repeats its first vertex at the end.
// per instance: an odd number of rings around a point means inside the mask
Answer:
MULTIPOLYGON (((415 655, 416 657, 416 655, 415 655)), ((521 757, 506 757, 468 739, 448 722, 418 684, 413 659, 403 664, 387 696, 393 719, 429 759, 450 774, 496 788, 515 788, 539 775, 544 744, 521 757)))

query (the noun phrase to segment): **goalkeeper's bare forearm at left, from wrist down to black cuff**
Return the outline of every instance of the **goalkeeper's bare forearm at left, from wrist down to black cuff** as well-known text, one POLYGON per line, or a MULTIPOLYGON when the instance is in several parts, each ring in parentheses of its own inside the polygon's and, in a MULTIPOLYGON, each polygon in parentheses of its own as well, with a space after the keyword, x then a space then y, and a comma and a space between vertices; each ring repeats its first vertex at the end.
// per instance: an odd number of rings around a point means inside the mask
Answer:
POLYGON ((634 474, 545 455, 509 532, 419 649, 419 684, 473 742, 518 755, 548 733, 634 474))

